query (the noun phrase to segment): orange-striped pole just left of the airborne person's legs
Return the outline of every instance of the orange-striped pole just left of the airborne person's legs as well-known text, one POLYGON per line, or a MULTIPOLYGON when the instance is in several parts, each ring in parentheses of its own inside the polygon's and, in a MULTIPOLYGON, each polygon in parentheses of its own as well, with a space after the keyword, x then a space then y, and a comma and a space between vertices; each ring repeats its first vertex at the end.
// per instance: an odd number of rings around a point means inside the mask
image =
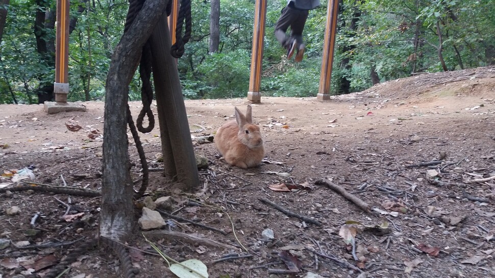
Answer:
POLYGON ((254 16, 253 53, 251 56, 248 99, 253 102, 261 102, 260 86, 265 38, 266 0, 256 0, 254 16))

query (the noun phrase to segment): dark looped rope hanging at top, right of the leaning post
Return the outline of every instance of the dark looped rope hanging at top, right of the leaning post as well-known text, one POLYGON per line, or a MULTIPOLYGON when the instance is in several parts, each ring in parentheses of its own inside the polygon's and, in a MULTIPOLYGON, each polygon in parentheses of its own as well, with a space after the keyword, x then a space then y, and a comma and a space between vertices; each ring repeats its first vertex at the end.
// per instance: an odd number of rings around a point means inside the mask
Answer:
MULTIPOLYGON (((169 0, 171 1, 171 0, 169 0)), ((181 58, 184 55, 184 45, 191 38, 192 19, 191 19, 191 0, 181 0, 181 9, 177 17, 176 43, 172 45, 170 54, 174 58, 181 58), (182 25, 186 23, 186 30, 182 36, 182 25)))

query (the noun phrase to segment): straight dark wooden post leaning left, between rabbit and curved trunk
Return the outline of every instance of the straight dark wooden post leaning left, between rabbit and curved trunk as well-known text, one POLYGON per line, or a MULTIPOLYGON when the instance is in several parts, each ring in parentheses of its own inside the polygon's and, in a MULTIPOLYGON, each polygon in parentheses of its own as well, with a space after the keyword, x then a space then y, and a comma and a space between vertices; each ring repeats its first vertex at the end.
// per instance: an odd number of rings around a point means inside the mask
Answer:
POLYGON ((177 64, 170 51, 164 51, 171 47, 165 13, 150 38, 150 46, 164 174, 171 181, 183 184, 182 190, 191 191, 199 186, 200 179, 177 64))

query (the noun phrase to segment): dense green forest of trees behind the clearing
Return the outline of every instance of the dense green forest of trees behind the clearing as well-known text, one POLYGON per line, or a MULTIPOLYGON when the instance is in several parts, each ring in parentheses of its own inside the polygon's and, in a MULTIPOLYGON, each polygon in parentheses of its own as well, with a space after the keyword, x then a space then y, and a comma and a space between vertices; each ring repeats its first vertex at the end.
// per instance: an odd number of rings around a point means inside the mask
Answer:
MULTIPOLYGON (((318 92, 327 1, 310 11, 304 60, 287 61, 274 36, 286 0, 268 1, 265 96, 318 92)), ((254 0, 192 1, 192 36, 178 69, 187 99, 246 96, 254 0), (211 22, 213 22, 211 24, 211 22), (215 24, 215 22, 217 24, 215 24)), ((70 1, 69 101, 102 100, 126 0, 70 1)), ((55 80, 55 0, 0 0, 0 103, 42 103, 55 80)), ((495 64, 495 0, 340 0, 332 94, 424 72, 495 64)), ((130 99, 140 99, 139 73, 130 99)))

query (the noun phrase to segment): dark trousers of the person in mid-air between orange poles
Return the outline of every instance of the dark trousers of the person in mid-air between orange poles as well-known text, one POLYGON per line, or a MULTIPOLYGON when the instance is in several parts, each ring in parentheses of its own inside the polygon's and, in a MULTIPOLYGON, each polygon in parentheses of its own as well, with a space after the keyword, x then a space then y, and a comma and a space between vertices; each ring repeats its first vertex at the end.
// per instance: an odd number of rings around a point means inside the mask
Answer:
POLYGON ((308 10, 294 9, 286 6, 282 10, 279 20, 275 24, 275 37, 282 44, 287 47, 293 40, 298 45, 303 44, 303 30, 308 18, 308 10), (290 37, 287 39, 285 33, 290 26, 290 37))

